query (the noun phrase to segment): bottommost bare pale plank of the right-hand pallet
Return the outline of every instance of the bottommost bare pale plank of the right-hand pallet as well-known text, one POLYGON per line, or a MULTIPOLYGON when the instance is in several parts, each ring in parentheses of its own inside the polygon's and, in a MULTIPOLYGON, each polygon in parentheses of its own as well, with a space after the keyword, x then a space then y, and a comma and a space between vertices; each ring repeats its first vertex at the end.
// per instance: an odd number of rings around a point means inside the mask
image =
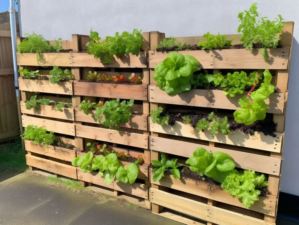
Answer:
POLYGON ((150 200, 151 202, 166 208, 219 225, 273 225, 272 223, 263 220, 217 208, 216 206, 209 206, 205 203, 183 198, 158 189, 150 189, 150 200))

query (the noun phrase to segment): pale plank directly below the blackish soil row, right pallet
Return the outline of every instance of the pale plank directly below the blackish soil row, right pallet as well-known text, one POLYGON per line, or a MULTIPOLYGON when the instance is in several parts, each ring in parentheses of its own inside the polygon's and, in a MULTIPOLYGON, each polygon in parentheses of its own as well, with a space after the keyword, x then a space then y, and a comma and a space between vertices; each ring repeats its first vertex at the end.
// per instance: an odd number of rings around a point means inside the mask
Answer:
POLYGON ((255 135, 251 136, 249 134, 243 134, 241 131, 239 131, 239 129, 232 131, 228 135, 222 133, 211 135, 210 131, 208 130, 205 130, 204 132, 198 132, 196 128, 193 128, 189 124, 186 125, 178 121, 175 121, 174 126, 164 125, 162 127, 159 124, 152 123, 151 118, 150 131, 206 141, 212 140, 213 142, 217 143, 243 146, 271 152, 280 152, 282 145, 282 133, 278 132, 275 132, 277 137, 271 137, 269 135, 266 136, 261 132, 255 132, 255 135))

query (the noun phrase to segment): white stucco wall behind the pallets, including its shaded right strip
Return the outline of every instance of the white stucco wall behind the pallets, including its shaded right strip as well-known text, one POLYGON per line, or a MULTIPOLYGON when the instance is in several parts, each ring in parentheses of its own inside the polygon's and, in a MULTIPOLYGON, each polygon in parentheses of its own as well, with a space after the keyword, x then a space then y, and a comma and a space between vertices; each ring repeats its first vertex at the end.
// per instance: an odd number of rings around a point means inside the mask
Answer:
POLYGON ((298 0, 18 0, 21 35, 35 31, 45 39, 71 34, 89 34, 90 27, 101 37, 116 31, 158 30, 167 37, 202 36, 210 33, 234 34, 239 25, 237 15, 258 2, 261 16, 274 19, 281 14, 294 21, 294 40, 289 76, 281 191, 299 195, 299 15, 298 0))

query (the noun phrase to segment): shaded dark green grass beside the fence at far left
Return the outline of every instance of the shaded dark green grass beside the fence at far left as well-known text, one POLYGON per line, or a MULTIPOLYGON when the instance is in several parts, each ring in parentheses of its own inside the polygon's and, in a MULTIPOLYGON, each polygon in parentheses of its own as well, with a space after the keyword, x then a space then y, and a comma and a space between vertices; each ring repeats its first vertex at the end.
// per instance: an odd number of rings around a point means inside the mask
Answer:
POLYGON ((13 140, 0 145, 0 169, 27 170, 26 151, 22 148, 21 140, 13 140))

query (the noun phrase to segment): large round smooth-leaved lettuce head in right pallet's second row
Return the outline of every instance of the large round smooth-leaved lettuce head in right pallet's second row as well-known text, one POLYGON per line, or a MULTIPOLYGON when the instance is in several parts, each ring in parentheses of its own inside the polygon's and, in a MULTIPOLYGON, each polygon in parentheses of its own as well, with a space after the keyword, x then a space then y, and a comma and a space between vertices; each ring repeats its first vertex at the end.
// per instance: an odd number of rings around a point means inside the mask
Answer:
POLYGON ((190 78, 199 71, 199 62, 193 56, 169 53, 162 63, 155 66, 153 79, 167 94, 178 94, 191 89, 190 78))

